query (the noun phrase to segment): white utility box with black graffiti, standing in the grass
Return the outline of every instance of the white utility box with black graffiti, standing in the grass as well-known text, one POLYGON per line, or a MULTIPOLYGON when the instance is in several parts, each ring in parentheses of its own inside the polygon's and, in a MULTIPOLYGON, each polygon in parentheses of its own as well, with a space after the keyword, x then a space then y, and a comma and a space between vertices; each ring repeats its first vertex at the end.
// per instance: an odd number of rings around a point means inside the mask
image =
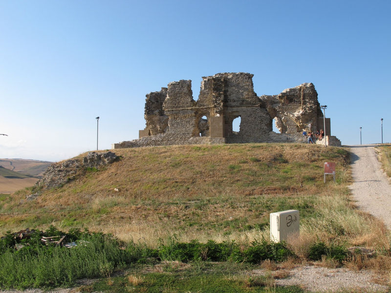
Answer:
POLYGON ((296 209, 270 213, 270 239, 281 242, 289 234, 299 234, 299 220, 299 211, 296 209))

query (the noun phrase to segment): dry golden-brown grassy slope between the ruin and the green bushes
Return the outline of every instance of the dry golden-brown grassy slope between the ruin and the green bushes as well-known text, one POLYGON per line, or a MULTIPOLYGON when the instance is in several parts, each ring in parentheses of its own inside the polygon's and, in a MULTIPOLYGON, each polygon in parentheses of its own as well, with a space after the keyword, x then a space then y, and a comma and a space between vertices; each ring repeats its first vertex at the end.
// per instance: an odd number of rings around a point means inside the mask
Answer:
POLYGON ((315 238, 388 245, 384 226, 356 212, 348 200, 345 149, 245 144, 115 152, 122 160, 35 201, 19 204, 29 190, 1 197, 0 234, 54 224, 111 232, 150 246, 173 233, 183 241, 241 241, 267 238, 270 212, 299 209, 298 250, 315 238), (324 185, 325 161, 337 163, 337 184, 330 176, 324 185))

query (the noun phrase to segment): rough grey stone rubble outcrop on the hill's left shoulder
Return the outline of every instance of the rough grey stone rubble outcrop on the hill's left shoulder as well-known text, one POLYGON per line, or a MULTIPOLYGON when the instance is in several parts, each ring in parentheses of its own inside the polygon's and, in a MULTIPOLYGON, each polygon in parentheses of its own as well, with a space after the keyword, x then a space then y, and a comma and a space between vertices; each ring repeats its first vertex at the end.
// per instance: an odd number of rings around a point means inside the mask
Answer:
POLYGON ((43 173, 43 177, 36 183, 37 186, 48 189, 59 187, 83 175, 87 168, 98 168, 115 162, 118 156, 111 152, 89 152, 82 159, 71 159, 50 165, 43 173))

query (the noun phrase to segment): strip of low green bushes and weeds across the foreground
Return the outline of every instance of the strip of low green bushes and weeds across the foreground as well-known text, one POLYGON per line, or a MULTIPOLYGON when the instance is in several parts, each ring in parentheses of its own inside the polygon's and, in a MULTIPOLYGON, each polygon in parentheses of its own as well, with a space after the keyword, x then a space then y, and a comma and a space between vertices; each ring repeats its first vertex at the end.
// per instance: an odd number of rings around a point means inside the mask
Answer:
MULTIPOLYGON (((0 240, 0 287, 59 287, 72 285, 80 278, 110 277, 118 269, 129 268, 132 263, 154 264, 158 261, 231 261, 260 264, 264 260, 282 262, 294 253, 284 243, 265 239, 240 244, 235 241, 217 243, 209 240, 178 242, 176 235, 169 237, 167 244, 159 240, 157 249, 145 244, 130 242, 126 247, 110 234, 92 233, 88 230, 71 229, 67 233, 51 226, 45 231, 34 231, 29 239, 17 240, 8 232, 0 240), (66 236, 76 246, 66 248, 41 242, 42 236, 66 236), (17 242, 24 244, 15 250, 17 242)), ((348 251, 338 245, 327 246, 323 242, 313 244, 309 259, 346 260, 348 251)))

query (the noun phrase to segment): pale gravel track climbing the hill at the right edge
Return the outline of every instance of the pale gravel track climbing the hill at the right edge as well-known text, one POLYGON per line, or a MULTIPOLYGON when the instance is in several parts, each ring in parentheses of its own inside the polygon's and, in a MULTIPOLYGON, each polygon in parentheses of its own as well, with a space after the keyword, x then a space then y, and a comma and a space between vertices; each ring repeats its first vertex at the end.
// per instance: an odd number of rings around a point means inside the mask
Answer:
POLYGON ((350 189, 359 209, 382 219, 391 229, 391 185, 381 170, 375 146, 349 146, 354 180, 350 189))

